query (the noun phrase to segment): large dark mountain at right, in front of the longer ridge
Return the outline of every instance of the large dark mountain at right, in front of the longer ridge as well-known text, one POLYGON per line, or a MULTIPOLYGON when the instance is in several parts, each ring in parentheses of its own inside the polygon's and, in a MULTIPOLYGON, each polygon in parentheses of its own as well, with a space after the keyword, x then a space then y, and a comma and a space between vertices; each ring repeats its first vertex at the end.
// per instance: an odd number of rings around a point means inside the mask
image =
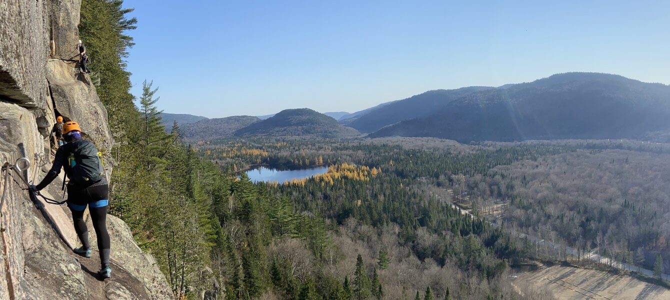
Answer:
POLYGON ((466 143, 641 139, 669 129, 669 116, 670 86, 611 74, 565 73, 475 92, 371 137, 442 137, 466 143))

